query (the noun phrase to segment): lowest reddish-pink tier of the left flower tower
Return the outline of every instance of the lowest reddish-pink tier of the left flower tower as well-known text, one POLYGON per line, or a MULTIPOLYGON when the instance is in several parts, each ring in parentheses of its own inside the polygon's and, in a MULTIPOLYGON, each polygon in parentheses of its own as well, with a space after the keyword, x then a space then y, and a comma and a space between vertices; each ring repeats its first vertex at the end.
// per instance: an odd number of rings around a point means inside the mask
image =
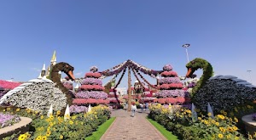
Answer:
POLYGON ((75 98, 73 104, 109 104, 108 99, 95 99, 95 98, 75 98))

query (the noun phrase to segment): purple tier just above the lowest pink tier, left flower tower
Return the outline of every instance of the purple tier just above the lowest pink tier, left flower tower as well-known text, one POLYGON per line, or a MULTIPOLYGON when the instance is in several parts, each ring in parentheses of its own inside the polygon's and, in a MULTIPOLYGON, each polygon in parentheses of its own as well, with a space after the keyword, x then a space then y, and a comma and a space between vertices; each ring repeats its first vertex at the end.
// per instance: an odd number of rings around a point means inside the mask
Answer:
POLYGON ((106 92, 100 91, 85 91, 85 92, 78 92, 75 94, 76 98, 96 98, 96 99, 107 99, 108 94, 106 92))

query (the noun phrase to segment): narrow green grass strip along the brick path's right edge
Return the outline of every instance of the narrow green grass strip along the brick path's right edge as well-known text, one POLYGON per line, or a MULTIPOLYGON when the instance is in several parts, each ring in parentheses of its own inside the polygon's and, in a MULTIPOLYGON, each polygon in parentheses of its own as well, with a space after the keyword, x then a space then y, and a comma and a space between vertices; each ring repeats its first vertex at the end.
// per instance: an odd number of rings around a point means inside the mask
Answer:
POLYGON ((164 136, 166 139, 178 140, 177 136, 173 135, 172 132, 166 130, 164 126, 161 126, 156 121, 147 118, 147 120, 164 136))

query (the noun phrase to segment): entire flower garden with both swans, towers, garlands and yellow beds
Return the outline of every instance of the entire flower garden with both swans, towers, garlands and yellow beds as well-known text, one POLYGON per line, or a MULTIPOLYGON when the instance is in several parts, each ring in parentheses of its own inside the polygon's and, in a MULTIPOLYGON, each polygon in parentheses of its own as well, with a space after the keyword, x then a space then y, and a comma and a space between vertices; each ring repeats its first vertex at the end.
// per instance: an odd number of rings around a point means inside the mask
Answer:
POLYGON ((248 133, 242 121, 245 115, 252 115, 252 121, 256 120, 253 102, 256 87, 236 76, 212 76, 212 65, 205 59, 194 59, 186 67, 186 77, 192 79, 185 83, 171 64, 166 64, 163 70, 150 70, 131 60, 102 72, 93 66, 79 81, 67 63, 53 67, 51 80, 0 81, 0 129, 18 123, 22 116, 32 119, 29 131, 4 139, 84 139, 110 118, 113 105, 128 101, 129 96, 119 96, 116 87, 129 68, 143 88, 141 94, 131 97, 132 102, 149 103, 148 117, 179 139, 256 138, 256 132, 248 133), (193 74, 198 69, 203 70, 200 79, 193 74), (67 79, 80 83, 78 91, 74 91, 73 81, 61 82, 59 71, 65 72, 67 79), (156 78, 158 84, 150 84, 140 72, 156 78), (119 73, 121 76, 115 83, 119 73), (104 87, 102 79, 107 76, 113 76, 112 83, 104 87), (109 88, 108 92, 105 88, 109 88), (47 114, 49 106, 53 112, 47 114))

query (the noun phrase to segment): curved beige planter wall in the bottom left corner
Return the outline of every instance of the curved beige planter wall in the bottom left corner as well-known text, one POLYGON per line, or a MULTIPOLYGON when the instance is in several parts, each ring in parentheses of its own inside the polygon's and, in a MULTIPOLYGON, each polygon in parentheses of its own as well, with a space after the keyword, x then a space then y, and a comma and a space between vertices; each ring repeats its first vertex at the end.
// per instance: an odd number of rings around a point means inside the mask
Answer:
POLYGON ((9 137, 14 133, 25 133, 29 131, 32 119, 26 117, 20 117, 20 122, 15 123, 13 126, 7 126, 0 129, 0 139, 3 137, 9 137))

